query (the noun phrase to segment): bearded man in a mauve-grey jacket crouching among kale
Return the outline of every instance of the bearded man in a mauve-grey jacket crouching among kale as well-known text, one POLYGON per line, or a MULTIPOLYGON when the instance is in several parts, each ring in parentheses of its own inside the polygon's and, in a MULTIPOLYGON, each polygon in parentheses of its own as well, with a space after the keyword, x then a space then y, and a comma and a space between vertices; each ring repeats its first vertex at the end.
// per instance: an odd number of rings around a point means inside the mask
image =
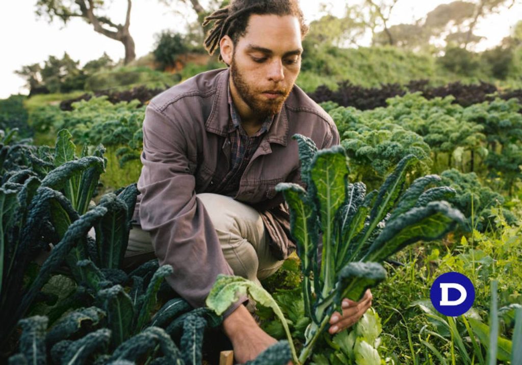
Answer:
MULTIPOLYGON (((205 41, 229 68, 199 74, 156 96, 143 125, 141 195, 129 251, 150 246, 171 264, 169 284, 191 305, 205 299, 220 273, 259 283, 295 246, 288 211, 275 186, 300 181, 296 141, 319 149, 339 143, 333 120, 294 86, 301 67, 303 15, 295 0, 232 0, 206 19, 205 41), (149 238, 150 233, 150 238, 149 238)), ((236 361, 275 343, 241 298, 224 314, 236 361)), ((357 322, 371 306, 345 299, 330 333, 357 322)))

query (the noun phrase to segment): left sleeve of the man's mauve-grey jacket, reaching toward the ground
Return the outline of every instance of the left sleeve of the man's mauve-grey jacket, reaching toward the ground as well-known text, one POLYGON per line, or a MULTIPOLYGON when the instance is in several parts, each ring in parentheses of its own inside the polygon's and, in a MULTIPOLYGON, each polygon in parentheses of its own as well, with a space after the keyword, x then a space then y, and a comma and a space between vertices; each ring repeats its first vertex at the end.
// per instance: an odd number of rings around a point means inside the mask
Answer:
MULTIPOLYGON (((174 269, 167 282, 193 307, 203 307, 217 275, 233 272, 210 217, 196 197, 186 151, 186 135, 180 124, 149 104, 138 180, 141 228, 150 233, 160 265, 174 269)), ((225 315, 244 300, 246 297, 240 298, 225 315)))

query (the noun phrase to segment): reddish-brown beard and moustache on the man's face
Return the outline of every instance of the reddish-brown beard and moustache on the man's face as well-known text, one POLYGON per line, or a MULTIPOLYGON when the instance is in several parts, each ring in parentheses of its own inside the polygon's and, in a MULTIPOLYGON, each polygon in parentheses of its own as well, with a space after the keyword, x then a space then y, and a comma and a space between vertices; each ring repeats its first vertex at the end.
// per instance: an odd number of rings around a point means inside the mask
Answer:
POLYGON ((259 115, 263 118, 279 113, 283 107, 284 101, 287 100, 288 95, 292 90, 284 90, 280 87, 272 87, 272 89, 269 89, 269 87, 266 89, 258 89, 255 86, 249 85, 246 82, 244 75, 235 64, 233 58, 230 64, 230 75, 232 76, 232 81, 234 82, 236 90, 238 90, 240 98, 245 102, 246 105, 248 105, 248 107, 252 109, 256 115, 259 115), (265 96, 262 95, 264 92, 270 90, 279 90, 282 98, 271 100, 265 98, 265 96))

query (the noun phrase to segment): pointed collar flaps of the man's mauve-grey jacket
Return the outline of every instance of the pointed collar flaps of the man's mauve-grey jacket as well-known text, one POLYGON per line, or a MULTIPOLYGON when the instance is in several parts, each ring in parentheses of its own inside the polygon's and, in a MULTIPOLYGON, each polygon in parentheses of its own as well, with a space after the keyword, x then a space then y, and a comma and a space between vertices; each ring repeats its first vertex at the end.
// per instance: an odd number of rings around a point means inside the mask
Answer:
MULTIPOLYGON (((225 137, 228 132, 230 105, 228 102, 228 82, 230 77, 229 68, 220 72, 216 77, 216 96, 213 98, 210 115, 205 122, 205 129, 225 137)), ((292 90, 293 92, 293 90, 292 90)), ((270 143, 278 143, 286 146, 288 143, 288 117, 286 112, 286 102, 283 103, 281 112, 274 116, 274 121, 266 134, 266 139, 270 143)))

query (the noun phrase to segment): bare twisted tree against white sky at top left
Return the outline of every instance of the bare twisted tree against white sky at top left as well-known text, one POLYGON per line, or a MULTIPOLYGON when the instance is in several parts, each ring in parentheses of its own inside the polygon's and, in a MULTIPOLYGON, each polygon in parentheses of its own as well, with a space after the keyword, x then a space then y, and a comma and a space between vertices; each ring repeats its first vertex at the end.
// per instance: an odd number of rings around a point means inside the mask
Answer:
POLYGON ((38 0, 36 14, 39 17, 48 16, 52 22, 54 17, 60 18, 64 25, 72 18, 81 18, 91 24, 94 31, 110 39, 121 42, 125 47, 125 64, 136 58, 134 40, 129 33, 131 25, 132 0, 127 0, 125 23, 116 24, 108 17, 98 15, 104 8, 104 0, 38 0))

